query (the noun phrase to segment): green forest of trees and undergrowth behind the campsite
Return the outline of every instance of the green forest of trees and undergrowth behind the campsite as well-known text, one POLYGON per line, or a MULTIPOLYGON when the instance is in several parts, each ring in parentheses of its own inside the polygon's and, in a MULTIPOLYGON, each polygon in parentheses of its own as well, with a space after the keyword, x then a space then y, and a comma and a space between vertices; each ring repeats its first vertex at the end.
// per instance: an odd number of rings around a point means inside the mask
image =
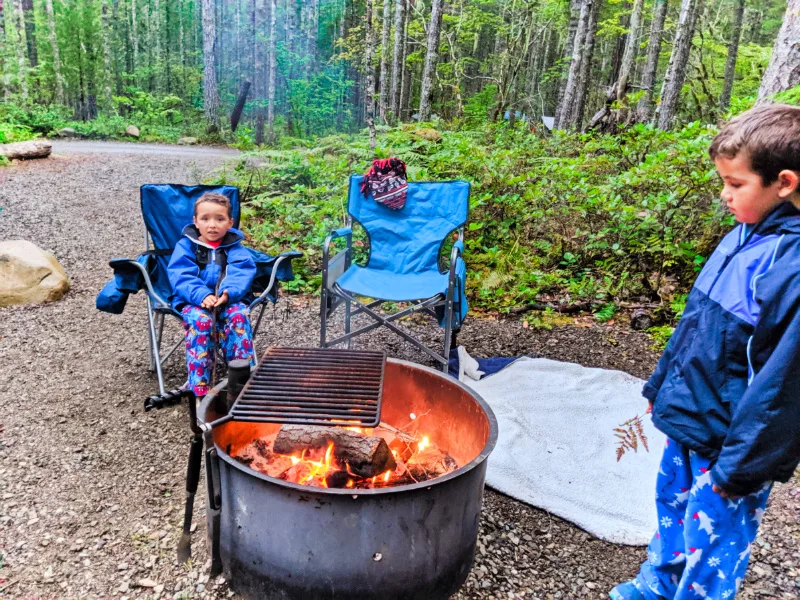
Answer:
POLYGON ((662 341, 733 223, 719 123, 800 104, 800 0, 0 0, 0 23, 0 144, 232 144, 215 181, 252 244, 306 253, 294 290, 319 287, 348 175, 398 156, 472 183, 475 309, 642 307, 662 341))

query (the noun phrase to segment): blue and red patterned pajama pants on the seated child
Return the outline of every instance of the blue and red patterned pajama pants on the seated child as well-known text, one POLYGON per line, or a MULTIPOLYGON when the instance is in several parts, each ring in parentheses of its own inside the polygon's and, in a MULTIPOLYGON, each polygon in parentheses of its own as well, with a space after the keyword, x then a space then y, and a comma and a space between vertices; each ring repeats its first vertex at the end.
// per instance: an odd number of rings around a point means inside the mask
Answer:
MULTIPOLYGON (((213 366, 213 336, 211 312, 199 306, 185 306, 181 310, 183 328, 186 330, 186 368, 189 371, 187 387, 195 396, 208 393, 213 366)), ((220 348, 225 360, 250 360, 253 362, 253 331, 247 306, 241 302, 226 305, 217 315, 220 348)))

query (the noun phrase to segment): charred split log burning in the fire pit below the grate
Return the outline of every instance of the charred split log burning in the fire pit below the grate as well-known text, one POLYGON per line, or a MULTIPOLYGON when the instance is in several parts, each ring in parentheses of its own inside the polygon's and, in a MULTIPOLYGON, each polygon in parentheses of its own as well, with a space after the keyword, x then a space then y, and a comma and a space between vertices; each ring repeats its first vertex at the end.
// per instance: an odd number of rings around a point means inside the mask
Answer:
POLYGON ((293 455, 302 454, 304 450, 323 449, 331 443, 336 460, 340 464, 347 463, 349 471, 360 477, 374 477, 397 467, 382 437, 340 427, 284 425, 272 449, 277 454, 293 455))

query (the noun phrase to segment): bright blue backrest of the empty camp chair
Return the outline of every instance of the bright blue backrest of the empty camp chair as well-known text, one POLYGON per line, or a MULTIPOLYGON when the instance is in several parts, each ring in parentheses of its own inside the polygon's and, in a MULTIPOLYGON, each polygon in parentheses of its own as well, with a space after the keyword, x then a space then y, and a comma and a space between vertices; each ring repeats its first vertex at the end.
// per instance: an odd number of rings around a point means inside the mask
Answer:
POLYGON ((464 225, 469 210, 466 181, 412 182, 401 210, 361 193, 363 176, 350 177, 348 212, 369 235, 370 268, 394 273, 439 270, 447 235, 464 225))

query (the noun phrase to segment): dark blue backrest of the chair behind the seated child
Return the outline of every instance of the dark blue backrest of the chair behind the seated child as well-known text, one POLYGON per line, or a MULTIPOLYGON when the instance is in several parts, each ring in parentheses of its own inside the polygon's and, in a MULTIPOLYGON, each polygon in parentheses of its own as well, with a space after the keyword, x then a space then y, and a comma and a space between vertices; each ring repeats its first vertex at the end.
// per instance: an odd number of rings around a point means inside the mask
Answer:
POLYGON ((225 194, 231 201, 234 227, 239 227, 239 188, 230 185, 147 184, 141 187, 142 217, 153 245, 171 250, 183 228, 192 223, 194 203, 205 193, 225 194))

